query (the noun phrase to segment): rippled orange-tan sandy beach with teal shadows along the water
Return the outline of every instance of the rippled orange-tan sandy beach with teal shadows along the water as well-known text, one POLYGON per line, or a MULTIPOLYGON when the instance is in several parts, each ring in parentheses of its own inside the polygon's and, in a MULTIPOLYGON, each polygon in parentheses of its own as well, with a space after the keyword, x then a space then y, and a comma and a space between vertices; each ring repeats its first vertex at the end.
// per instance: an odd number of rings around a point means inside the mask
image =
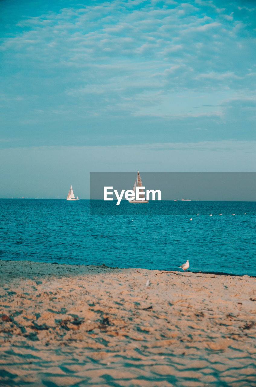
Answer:
POLYGON ((256 386, 256 278, 0 265, 0 385, 256 386))

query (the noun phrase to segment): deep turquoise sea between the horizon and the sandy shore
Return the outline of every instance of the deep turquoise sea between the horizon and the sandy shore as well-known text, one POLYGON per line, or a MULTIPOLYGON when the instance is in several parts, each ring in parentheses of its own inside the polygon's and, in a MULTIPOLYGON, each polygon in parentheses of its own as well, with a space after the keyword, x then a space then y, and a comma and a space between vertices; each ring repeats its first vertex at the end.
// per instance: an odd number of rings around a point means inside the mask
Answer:
POLYGON ((256 276, 256 202, 121 204, 0 199, 0 260, 256 276))

